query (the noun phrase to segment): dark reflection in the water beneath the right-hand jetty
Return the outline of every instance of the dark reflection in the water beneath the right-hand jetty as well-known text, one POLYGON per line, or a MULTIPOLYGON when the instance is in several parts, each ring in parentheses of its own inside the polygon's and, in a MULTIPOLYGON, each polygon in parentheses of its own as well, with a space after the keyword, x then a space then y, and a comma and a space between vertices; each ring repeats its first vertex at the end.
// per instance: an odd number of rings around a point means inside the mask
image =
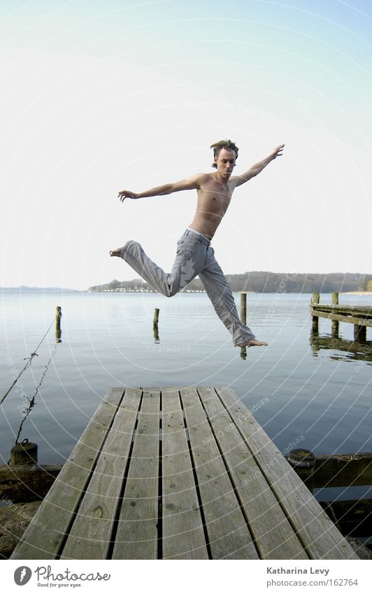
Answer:
POLYGON ((366 344, 360 344, 357 341, 345 340, 337 337, 320 337, 315 332, 310 333, 310 346, 313 357, 317 357, 320 351, 333 351, 329 358, 332 360, 344 361, 366 361, 372 362, 372 342, 367 341, 366 344), (342 351, 347 355, 336 353, 335 351, 342 351))

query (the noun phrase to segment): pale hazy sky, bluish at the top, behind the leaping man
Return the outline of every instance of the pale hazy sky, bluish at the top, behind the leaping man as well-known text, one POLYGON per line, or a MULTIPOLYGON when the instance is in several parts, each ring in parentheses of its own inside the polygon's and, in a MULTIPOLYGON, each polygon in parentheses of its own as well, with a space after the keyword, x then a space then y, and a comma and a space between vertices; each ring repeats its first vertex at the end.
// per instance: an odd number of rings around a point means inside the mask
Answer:
POLYGON ((126 200, 210 168, 238 188, 213 246, 226 274, 372 272, 369 0, 3 0, 0 286, 136 278, 111 248, 170 269, 196 192, 126 200))

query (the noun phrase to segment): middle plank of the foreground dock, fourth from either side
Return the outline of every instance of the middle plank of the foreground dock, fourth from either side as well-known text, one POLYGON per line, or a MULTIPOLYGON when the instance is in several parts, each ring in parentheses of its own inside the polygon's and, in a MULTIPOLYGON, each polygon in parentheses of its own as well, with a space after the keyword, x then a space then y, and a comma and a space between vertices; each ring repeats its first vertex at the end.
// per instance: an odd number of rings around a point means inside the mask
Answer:
POLYGON ((208 559, 178 389, 162 391, 164 559, 208 559))

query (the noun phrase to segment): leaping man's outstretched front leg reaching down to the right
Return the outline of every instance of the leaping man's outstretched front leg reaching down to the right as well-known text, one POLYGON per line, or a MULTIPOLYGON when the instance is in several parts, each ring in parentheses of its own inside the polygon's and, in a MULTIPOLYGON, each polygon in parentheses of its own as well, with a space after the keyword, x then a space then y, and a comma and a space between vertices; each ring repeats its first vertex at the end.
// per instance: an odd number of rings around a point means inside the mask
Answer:
POLYGON ((241 323, 230 285, 215 259, 213 248, 208 248, 206 266, 199 272, 199 278, 213 303, 217 316, 231 333, 234 346, 266 345, 266 343, 255 339, 252 330, 241 323))

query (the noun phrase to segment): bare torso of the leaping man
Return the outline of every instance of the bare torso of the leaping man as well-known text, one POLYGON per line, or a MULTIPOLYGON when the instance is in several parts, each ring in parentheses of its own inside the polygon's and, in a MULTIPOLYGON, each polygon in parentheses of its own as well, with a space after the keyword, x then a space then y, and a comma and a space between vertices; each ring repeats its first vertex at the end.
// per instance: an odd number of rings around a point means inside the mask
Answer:
POLYGON ((219 181, 215 173, 201 174, 198 182, 198 204, 189 228, 212 239, 229 207, 236 183, 234 178, 227 183, 219 181))

